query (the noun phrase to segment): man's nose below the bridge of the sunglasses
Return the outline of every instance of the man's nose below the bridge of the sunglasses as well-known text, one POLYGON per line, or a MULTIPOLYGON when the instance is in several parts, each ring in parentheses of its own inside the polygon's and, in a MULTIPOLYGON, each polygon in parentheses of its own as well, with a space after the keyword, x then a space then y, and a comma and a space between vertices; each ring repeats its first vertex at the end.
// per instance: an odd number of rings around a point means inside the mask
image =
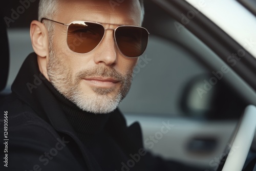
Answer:
POLYGON ((115 45, 113 30, 106 30, 100 45, 97 47, 97 54, 94 56, 95 63, 104 63, 106 66, 113 66, 117 61, 118 49, 115 45))

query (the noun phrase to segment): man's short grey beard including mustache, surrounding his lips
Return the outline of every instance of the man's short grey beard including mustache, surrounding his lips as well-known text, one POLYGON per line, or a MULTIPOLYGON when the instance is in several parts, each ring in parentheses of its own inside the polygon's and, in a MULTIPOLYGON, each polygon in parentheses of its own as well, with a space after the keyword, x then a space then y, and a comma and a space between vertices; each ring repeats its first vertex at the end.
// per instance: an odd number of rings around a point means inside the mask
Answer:
POLYGON ((60 94, 76 104, 82 111, 94 114, 110 113, 117 108, 120 101, 129 92, 132 83, 132 71, 123 76, 115 69, 101 65, 97 66, 97 68, 80 71, 75 75, 75 79, 72 79, 70 69, 65 61, 63 61, 63 58, 61 58, 61 55, 59 55, 59 58, 57 57, 52 47, 53 46, 50 45, 49 62, 47 64, 47 73, 50 82, 60 94), (110 93, 115 91, 115 88, 92 87, 95 95, 87 95, 86 92, 80 89, 79 83, 81 83, 84 77, 88 76, 114 78, 119 81, 121 85, 120 89, 118 93, 112 97, 110 93))

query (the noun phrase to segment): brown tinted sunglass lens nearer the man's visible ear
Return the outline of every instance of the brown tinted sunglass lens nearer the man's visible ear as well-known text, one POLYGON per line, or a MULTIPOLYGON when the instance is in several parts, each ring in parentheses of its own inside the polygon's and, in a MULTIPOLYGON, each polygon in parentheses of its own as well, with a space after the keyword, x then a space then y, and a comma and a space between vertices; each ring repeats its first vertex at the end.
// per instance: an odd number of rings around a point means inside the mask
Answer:
POLYGON ((88 53, 97 47, 104 31, 104 27, 96 23, 71 24, 68 28, 68 46, 74 52, 88 53))

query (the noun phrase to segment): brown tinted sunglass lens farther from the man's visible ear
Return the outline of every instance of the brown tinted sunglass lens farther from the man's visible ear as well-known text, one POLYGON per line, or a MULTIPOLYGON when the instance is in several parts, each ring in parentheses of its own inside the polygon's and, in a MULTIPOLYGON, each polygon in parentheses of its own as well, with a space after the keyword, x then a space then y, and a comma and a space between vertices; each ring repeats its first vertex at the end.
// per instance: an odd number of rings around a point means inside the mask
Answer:
POLYGON ((127 57, 138 57, 147 46, 148 32, 144 28, 120 26, 115 32, 119 50, 127 57))

